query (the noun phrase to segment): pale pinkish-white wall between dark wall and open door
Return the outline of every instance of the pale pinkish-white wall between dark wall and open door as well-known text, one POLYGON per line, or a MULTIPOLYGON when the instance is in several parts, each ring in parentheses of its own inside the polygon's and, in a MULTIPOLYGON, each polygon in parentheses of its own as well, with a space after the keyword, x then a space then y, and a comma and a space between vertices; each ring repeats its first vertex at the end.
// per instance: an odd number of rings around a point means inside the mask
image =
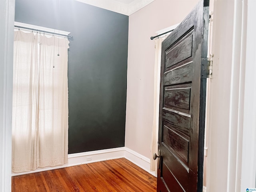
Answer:
POLYGON ((125 146, 150 158, 156 31, 181 22, 198 0, 155 0, 129 16, 125 146), (184 6, 186 5, 186 6, 184 6))

